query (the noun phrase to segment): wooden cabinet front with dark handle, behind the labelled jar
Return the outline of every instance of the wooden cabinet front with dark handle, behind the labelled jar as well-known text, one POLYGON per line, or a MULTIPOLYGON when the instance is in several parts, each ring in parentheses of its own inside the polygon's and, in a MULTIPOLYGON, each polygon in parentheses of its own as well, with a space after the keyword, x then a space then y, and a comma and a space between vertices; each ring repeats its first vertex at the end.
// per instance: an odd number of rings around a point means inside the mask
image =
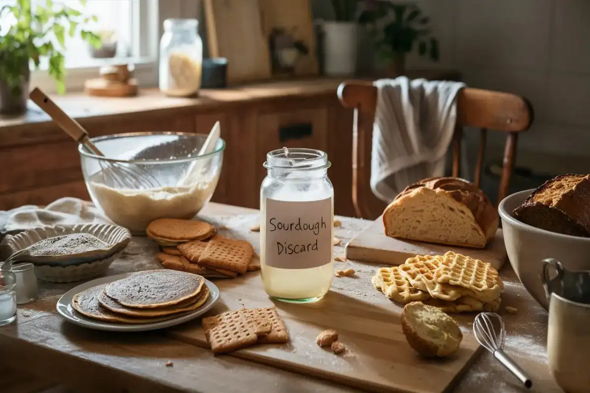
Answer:
POLYGON ((326 107, 258 114, 256 159, 260 163, 257 183, 266 176, 262 164, 269 151, 282 147, 307 147, 327 151, 326 107))

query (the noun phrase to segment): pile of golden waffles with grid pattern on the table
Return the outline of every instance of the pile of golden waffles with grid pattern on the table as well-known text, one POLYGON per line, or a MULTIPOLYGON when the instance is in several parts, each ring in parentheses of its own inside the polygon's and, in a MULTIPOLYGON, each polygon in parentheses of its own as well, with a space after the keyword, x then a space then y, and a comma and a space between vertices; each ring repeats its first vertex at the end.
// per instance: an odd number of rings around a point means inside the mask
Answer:
POLYGON ((396 302, 421 301, 451 313, 497 311, 504 288, 489 263, 452 251, 417 255, 404 265, 381 267, 372 283, 396 302))

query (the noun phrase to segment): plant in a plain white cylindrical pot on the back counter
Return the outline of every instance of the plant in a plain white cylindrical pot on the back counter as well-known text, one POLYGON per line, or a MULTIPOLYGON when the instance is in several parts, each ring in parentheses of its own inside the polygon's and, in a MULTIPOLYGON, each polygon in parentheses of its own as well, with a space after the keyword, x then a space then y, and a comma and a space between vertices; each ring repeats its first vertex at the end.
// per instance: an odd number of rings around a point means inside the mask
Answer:
POLYGON ((356 71, 359 0, 332 0, 334 20, 323 22, 324 74, 352 75, 356 71))

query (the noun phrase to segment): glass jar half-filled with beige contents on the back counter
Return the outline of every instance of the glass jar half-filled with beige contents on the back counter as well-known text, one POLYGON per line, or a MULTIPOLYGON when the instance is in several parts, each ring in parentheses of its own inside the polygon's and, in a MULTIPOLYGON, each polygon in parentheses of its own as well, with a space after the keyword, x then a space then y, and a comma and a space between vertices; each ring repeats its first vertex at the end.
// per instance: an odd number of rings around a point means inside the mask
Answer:
POLYGON ((190 97, 201 89, 203 41, 196 19, 166 19, 160 40, 160 90, 190 97))

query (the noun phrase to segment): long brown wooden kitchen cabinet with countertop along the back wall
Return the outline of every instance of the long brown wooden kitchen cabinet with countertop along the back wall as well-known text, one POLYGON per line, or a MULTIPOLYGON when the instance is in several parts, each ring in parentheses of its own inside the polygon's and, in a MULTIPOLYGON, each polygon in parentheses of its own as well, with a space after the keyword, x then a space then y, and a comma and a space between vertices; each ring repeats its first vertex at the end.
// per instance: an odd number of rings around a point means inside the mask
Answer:
MULTIPOLYGON (((456 73, 415 77, 453 79, 456 73)), ((335 213, 354 216, 353 111, 343 108, 337 99, 340 82, 269 82, 204 90, 199 98, 186 99, 143 90, 130 98, 67 95, 55 97, 55 101, 74 115, 90 136, 139 131, 207 134, 215 121, 220 121, 226 146, 214 202, 259 207, 268 151, 283 146, 326 151, 332 162, 328 174, 334 185, 335 213)), ((0 119, 0 171, 0 210, 47 204, 63 196, 89 198, 76 143, 44 114, 0 119)))

